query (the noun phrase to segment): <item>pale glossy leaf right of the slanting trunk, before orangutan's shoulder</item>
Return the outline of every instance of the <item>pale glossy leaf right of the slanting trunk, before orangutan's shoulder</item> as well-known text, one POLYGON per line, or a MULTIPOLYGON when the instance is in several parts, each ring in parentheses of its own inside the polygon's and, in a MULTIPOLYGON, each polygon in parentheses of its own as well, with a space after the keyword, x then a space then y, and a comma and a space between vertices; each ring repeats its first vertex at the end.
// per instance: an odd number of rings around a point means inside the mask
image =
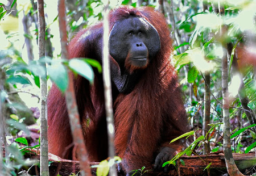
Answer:
POLYGON ((80 74, 82 77, 88 79, 91 83, 94 79, 94 73, 92 67, 87 64, 85 61, 73 58, 68 62, 69 68, 73 70, 73 72, 80 74))

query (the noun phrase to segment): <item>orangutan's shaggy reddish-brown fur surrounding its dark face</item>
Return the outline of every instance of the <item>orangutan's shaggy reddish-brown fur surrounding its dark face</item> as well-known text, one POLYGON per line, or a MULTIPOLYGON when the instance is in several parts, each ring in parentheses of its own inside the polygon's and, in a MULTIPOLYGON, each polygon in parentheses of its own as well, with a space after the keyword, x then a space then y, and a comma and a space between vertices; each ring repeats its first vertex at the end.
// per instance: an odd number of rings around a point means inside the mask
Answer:
MULTIPOLYGON (((115 150, 123 158, 126 171, 154 164, 156 155, 163 146, 176 150, 179 144, 170 141, 187 131, 187 120, 174 66, 171 64, 172 41, 164 17, 150 8, 134 9, 119 7, 110 13, 110 29, 123 16, 135 14, 148 20, 158 31, 161 50, 144 69, 142 77, 129 94, 113 89, 115 150)), ((97 58, 98 39, 102 35, 102 23, 77 33, 69 44, 69 55, 97 58), (89 33, 87 43, 84 36, 89 33), (93 31, 100 31, 95 32, 93 31)), ((112 66, 117 62, 110 57, 112 66)), ((86 148, 90 161, 101 161, 108 157, 106 136, 104 92, 102 74, 95 72, 92 86, 82 77, 75 78, 75 90, 86 148), (90 119, 89 125, 88 120, 90 119)), ((53 86, 48 97, 49 152, 64 158, 71 158, 71 130, 63 95, 53 86), (66 154, 64 154, 66 153, 66 154)))

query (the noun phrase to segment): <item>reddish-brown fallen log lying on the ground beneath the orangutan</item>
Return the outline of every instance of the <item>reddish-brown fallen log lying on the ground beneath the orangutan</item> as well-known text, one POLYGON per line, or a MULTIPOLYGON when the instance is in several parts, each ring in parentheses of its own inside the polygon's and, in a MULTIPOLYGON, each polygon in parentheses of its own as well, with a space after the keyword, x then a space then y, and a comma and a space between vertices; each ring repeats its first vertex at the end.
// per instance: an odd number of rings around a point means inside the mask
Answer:
MULTIPOLYGON (((39 151, 38 150, 32 150, 34 153, 26 154, 26 158, 35 158, 36 160, 39 160, 39 151)), ((252 169, 256 165, 256 157, 255 152, 254 153, 248 153, 248 154, 238 154, 233 153, 234 160, 236 162, 236 165, 238 169, 245 173, 247 170, 252 169)), ((212 163, 210 165, 210 175, 224 175, 227 173, 226 171, 226 165, 225 165, 225 158, 224 153, 212 153, 208 154, 208 156, 202 155, 202 156, 183 156, 180 157, 180 160, 177 161, 176 169, 171 170, 169 173, 163 173, 162 171, 153 171, 152 168, 146 168, 145 170, 151 170, 151 173, 154 175, 174 175, 174 176, 197 176, 197 175, 208 175, 207 167, 208 164, 212 163), (184 161, 184 165, 181 164, 181 161, 184 161)), ((51 165, 49 167, 49 175, 61 175, 61 176, 68 176, 72 173, 79 173, 80 167, 78 161, 72 161, 72 160, 65 160, 63 158, 57 157, 54 154, 49 153, 49 161, 51 161, 51 165)), ((98 162, 89 162, 90 166, 97 166, 98 162)), ((35 169, 30 169, 30 174, 35 175, 35 169)), ((139 169, 139 168, 138 168, 139 169)), ((93 167, 92 169, 92 175, 96 175, 96 167, 93 167)), ((124 176, 124 173, 119 172, 118 176, 124 176)))

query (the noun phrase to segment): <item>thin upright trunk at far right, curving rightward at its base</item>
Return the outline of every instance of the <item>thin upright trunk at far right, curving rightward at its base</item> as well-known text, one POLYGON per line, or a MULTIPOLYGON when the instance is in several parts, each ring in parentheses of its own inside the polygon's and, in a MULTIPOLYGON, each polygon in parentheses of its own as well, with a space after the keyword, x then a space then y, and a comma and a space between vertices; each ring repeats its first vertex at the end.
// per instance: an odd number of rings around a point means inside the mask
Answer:
MULTIPOLYGON (((218 2, 218 10, 221 15, 224 14, 224 8, 220 6, 218 2)), ((224 35, 226 31, 225 26, 221 28, 221 35, 224 35)), ((225 43, 222 43, 222 46, 226 46, 225 43)), ((226 47, 225 47, 226 48, 226 47)), ((231 143, 230 143, 230 121, 229 121, 229 89, 228 89, 228 55, 224 55, 222 58, 222 95, 223 95, 223 116, 224 116, 224 155, 226 168, 229 175, 243 175, 237 168, 236 163, 232 155, 231 143)))

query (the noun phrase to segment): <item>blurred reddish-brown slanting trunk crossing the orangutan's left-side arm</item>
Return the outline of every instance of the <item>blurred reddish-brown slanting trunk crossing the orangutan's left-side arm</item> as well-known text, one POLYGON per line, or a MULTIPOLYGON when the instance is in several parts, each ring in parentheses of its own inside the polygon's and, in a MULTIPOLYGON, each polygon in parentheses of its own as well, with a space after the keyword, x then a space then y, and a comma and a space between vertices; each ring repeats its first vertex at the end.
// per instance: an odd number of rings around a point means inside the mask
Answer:
MULTIPOLYGON (((61 40, 61 57, 69 58, 68 45, 67 45, 67 29, 66 29, 66 16, 65 16, 65 0, 59 0, 59 28, 60 28, 60 40, 61 40)), ((91 175, 90 167, 88 164, 88 154, 85 148, 84 136, 82 135, 82 128, 80 124, 79 112, 76 104, 76 96, 73 85, 72 72, 69 70, 68 74, 69 85, 68 90, 65 92, 65 99, 68 108, 69 123, 71 125, 71 131, 73 136, 73 142, 77 149, 77 157, 80 161, 80 168, 82 169, 82 175, 91 175)))

